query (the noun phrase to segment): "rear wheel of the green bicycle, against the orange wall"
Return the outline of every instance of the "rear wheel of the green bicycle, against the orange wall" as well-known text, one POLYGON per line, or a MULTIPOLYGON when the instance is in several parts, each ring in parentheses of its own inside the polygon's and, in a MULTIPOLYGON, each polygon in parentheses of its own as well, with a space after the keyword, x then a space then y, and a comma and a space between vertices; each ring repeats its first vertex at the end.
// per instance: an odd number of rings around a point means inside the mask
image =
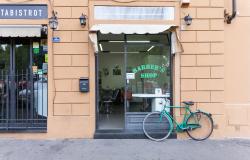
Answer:
POLYGON ((188 128, 186 130, 188 136, 196 141, 202 141, 209 138, 214 129, 212 117, 204 112, 195 112, 191 114, 186 122, 188 127, 197 123, 200 125, 199 128, 188 128))

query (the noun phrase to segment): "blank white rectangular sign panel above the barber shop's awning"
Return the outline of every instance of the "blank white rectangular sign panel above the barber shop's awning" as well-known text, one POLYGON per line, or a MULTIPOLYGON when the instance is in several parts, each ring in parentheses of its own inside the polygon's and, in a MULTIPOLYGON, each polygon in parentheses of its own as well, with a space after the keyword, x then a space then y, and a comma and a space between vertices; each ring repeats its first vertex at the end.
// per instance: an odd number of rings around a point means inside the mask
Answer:
POLYGON ((98 20, 174 20, 174 7, 95 6, 98 20))

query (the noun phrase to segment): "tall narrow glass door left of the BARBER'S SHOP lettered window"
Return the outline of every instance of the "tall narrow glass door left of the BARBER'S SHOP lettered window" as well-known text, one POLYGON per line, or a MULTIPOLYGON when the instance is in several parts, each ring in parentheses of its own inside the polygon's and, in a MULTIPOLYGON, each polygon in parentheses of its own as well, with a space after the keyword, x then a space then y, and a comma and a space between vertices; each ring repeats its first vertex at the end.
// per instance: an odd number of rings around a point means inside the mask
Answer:
POLYGON ((99 34, 98 129, 124 128, 124 35, 99 34))

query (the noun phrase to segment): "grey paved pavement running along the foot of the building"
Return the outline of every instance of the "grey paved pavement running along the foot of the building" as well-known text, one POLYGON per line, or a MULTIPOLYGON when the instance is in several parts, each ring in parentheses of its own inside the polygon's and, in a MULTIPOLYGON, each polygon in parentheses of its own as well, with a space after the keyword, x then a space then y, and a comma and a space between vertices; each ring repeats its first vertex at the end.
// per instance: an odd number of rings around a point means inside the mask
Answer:
POLYGON ((0 160, 250 160, 250 140, 0 139, 0 160))

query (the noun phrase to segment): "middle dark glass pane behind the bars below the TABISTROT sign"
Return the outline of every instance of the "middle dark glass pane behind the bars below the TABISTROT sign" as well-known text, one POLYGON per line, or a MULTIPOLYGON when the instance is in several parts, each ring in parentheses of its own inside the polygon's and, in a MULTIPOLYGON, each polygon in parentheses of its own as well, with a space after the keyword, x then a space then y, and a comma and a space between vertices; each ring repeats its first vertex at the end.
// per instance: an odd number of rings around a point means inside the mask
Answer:
MULTIPOLYGON (((15 85, 10 86, 10 97, 11 101, 15 101, 15 104, 11 107, 16 112, 16 119, 31 118, 33 111, 32 107, 29 107, 31 106, 30 41, 28 39, 16 39, 13 50, 12 65, 14 70, 12 77, 15 85)), ((11 115, 14 115, 14 113, 11 113, 11 115)))

